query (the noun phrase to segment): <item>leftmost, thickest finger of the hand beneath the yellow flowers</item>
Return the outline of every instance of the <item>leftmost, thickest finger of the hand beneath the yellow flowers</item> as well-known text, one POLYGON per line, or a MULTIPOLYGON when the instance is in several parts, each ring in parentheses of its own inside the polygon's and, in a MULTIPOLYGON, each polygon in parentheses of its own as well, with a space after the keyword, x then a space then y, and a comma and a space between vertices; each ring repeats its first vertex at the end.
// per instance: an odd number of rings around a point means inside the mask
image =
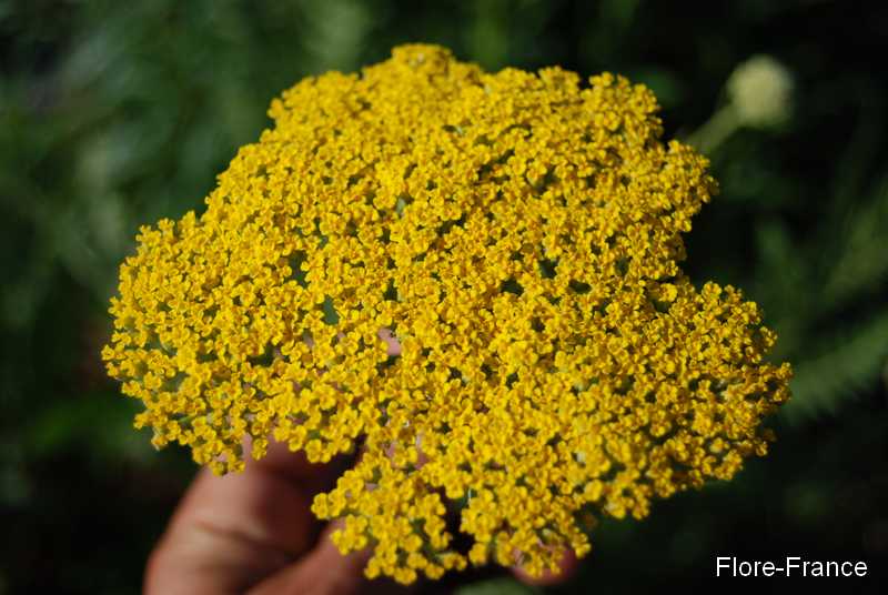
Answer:
POLYGON ((151 555, 145 593, 242 593, 313 545, 319 486, 309 484, 327 467, 280 444, 266 458, 240 474, 198 474, 151 555))

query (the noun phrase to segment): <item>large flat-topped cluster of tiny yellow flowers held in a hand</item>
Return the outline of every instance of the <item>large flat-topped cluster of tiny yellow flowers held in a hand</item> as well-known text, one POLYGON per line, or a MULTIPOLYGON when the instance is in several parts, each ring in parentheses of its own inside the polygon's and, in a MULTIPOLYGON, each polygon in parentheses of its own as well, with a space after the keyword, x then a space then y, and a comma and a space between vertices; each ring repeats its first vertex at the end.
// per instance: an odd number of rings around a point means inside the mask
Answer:
POLYGON ((679 270, 716 185, 657 110, 619 77, 422 44, 303 80, 206 211, 121 268, 103 356, 137 426, 219 473, 246 435, 256 457, 361 445, 313 511, 402 583, 538 575, 589 551, 591 518, 731 477, 790 369, 754 303, 679 270))

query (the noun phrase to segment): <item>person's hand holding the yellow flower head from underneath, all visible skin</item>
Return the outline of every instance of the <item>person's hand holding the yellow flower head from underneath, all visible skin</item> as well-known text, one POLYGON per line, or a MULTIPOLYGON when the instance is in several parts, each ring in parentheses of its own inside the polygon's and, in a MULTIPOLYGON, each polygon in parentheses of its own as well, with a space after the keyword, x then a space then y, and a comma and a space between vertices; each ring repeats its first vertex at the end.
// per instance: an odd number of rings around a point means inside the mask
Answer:
MULTIPOLYGON (((391 334, 381 336, 391 354, 400 353, 391 334)), ((312 498, 335 483, 343 462, 311 464, 274 441, 265 457, 246 460, 243 473, 198 473, 148 561, 147 595, 350 595, 380 593, 383 586, 391 593, 416 591, 364 578, 367 553, 340 554, 329 538, 333 525, 322 525, 312 514, 312 498)), ((576 558, 567 556, 557 575, 532 578, 519 567, 512 572, 527 584, 551 585, 575 568, 576 558)))

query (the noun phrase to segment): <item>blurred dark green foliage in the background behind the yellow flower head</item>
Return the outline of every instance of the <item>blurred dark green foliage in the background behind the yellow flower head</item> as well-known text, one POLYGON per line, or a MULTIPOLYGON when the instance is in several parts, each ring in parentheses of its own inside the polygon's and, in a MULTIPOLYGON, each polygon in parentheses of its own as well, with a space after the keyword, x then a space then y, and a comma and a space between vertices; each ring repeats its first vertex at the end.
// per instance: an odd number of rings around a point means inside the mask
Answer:
POLYGON ((0 594, 139 589, 193 467, 131 430, 137 405, 104 377, 117 266, 139 225, 201 209, 271 98, 405 41, 488 69, 627 74, 693 142, 722 125, 739 64, 784 64, 788 118, 710 143, 723 192, 688 236, 692 276, 744 288, 796 367, 779 441, 730 484, 606 523, 554 591, 693 587, 726 554, 862 558, 884 575, 888 9, 862 7, 0 0, 0 594))

